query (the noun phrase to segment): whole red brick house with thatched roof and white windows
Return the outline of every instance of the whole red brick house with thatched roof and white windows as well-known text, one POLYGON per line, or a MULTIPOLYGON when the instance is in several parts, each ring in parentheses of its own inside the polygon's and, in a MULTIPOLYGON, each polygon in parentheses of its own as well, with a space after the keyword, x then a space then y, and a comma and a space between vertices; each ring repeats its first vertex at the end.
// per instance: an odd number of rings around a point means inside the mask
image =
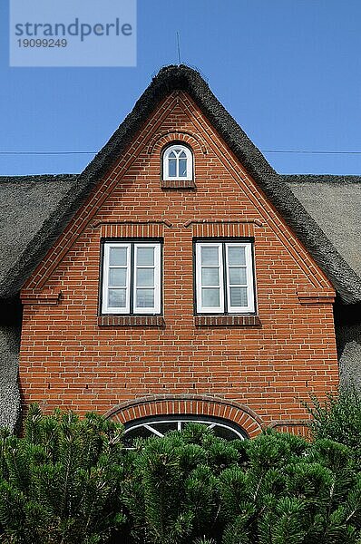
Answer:
POLYGON ((312 205, 359 182, 278 175, 199 73, 162 69, 82 174, 0 179, 0 421, 19 386, 129 436, 301 432, 359 345, 358 227, 342 246, 312 205))

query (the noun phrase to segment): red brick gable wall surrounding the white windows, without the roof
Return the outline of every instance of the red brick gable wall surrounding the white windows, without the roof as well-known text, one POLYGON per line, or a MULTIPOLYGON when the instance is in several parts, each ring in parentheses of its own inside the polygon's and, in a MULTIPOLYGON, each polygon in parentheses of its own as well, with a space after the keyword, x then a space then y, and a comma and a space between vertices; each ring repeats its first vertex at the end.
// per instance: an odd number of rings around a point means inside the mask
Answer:
POLYGON ((337 385, 329 281, 182 92, 161 102, 22 296, 25 405, 113 415, 148 395, 200 395, 282 425, 307 417, 308 393, 337 385), (195 188, 161 184, 161 149, 174 140, 192 148, 195 188), (201 236, 254 238, 257 317, 193 316, 192 239, 201 236), (103 237, 162 238, 162 318, 98 316, 103 237))

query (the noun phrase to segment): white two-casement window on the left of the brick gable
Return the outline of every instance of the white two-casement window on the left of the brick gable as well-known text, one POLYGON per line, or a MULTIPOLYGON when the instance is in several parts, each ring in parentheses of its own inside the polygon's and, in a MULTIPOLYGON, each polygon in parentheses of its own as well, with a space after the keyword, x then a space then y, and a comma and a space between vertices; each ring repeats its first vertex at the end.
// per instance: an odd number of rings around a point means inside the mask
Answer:
POLYGON ((102 314, 161 313, 161 243, 105 242, 102 314))

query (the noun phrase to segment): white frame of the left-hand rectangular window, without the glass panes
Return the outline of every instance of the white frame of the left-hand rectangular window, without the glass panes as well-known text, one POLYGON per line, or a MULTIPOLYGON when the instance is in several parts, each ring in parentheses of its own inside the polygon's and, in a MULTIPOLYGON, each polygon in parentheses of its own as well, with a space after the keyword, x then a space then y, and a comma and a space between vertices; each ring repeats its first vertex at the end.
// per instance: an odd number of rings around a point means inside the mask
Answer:
MULTIPOLYGON (((124 266, 125 267, 125 266, 124 266)), ((141 265, 141 268, 148 267, 141 265)), ((161 242, 104 242, 102 256, 102 314, 112 315, 160 315, 161 314, 161 242), (126 297, 124 307, 112 307, 108 305, 110 249, 127 248, 126 260, 126 297), (136 289, 141 288, 136 285, 137 252, 139 248, 154 249, 154 286, 144 288, 154 288, 154 306, 137 307, 136 289), (132 298, 131 298, 132 296, 132 298)))

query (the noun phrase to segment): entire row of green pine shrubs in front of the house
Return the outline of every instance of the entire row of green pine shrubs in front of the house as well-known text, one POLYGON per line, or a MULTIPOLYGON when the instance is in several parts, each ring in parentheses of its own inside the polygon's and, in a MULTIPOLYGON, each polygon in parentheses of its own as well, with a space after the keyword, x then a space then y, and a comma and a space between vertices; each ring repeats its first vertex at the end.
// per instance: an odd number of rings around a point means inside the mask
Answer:
POLYGON ((23 438, 0 432, 0 542, 361 544, 361 469, 327 432, 190 423, 125 450, 118 423, 33 406, 23 438))

